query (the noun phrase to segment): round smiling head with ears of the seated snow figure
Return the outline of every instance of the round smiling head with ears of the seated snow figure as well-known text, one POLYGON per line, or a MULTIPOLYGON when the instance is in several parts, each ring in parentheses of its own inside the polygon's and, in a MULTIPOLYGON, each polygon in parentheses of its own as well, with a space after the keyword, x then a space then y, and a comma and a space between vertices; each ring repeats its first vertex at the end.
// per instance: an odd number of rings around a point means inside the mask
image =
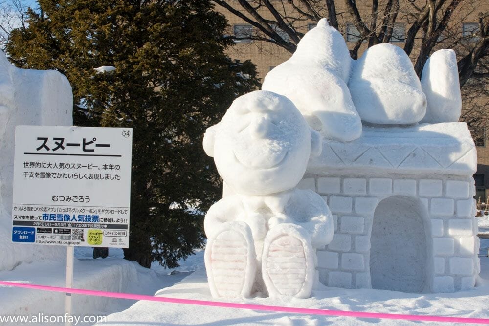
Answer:
POLYGON ((232 190, 256 196, 295 187, 322 142, 287 97, 258 90, 233 102, 203 146, 232 190))

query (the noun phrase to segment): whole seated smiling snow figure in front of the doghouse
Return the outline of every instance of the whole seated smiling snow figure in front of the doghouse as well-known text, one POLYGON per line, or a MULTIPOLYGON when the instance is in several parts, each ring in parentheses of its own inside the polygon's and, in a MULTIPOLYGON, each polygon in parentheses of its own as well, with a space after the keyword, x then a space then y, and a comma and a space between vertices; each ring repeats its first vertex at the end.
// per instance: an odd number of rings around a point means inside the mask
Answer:
POLYGON ((333 239, 325 201, 294 188, 321 152, 294 104, 268 91, 237 98, 203 146, 234 194, 208 211, 205 266, 214 297, 311 295, 315 249, 333 239))

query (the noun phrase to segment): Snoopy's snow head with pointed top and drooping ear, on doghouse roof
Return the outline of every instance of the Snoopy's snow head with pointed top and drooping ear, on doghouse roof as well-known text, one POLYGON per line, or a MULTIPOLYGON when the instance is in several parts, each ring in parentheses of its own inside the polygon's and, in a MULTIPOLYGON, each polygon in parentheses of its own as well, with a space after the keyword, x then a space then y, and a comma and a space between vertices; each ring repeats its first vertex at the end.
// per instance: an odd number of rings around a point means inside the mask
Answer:
POLYGON ((289 60, 268 72, 262 89, 287 96, 324 137, 351 141, 362 124, 347 87, 350 64, 343 36, 324 18, 289 60))

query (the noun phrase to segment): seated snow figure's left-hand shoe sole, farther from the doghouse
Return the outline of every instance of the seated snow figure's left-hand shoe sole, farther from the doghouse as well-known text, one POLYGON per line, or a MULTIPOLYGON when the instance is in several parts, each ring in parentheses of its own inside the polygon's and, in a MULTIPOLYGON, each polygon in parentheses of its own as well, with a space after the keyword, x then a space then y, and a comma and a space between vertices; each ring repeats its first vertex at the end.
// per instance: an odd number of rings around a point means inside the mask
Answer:
POLYGON ((220 225, 205 248, 205 269, 213 297, 249 297, 256 255, 249 226, 240 221, 220 225))

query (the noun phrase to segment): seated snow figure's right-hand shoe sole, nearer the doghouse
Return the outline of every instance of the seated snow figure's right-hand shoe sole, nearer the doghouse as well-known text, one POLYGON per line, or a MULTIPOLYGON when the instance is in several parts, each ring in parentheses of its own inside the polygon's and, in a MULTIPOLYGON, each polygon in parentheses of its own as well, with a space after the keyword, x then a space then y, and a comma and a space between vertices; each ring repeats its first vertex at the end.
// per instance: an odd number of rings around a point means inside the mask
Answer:
POLYGON ((309 298, 314 279, 311 237, 296 224, 279 224, 265 238, 262 275, 270 297, 309 298))

